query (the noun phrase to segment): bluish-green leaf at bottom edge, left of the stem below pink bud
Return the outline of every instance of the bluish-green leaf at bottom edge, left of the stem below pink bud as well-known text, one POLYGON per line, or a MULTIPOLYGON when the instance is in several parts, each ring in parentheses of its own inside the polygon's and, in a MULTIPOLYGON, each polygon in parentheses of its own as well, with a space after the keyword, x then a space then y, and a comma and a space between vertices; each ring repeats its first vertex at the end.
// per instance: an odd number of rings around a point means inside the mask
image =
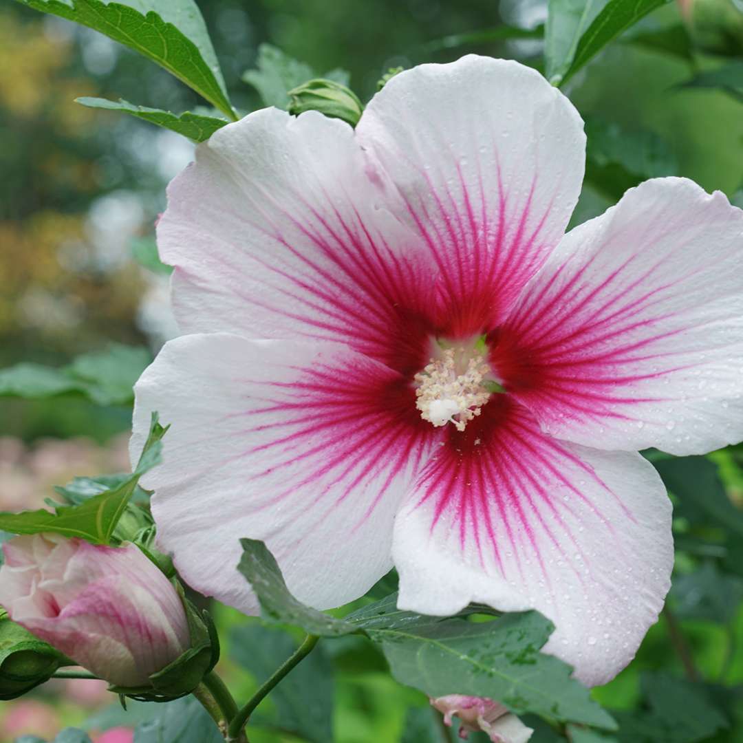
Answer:
POLYGON ((188 696, 152 707, 158 716, 137 725, 134 743, 224 743, 224 736, 195 698, 188 696))

